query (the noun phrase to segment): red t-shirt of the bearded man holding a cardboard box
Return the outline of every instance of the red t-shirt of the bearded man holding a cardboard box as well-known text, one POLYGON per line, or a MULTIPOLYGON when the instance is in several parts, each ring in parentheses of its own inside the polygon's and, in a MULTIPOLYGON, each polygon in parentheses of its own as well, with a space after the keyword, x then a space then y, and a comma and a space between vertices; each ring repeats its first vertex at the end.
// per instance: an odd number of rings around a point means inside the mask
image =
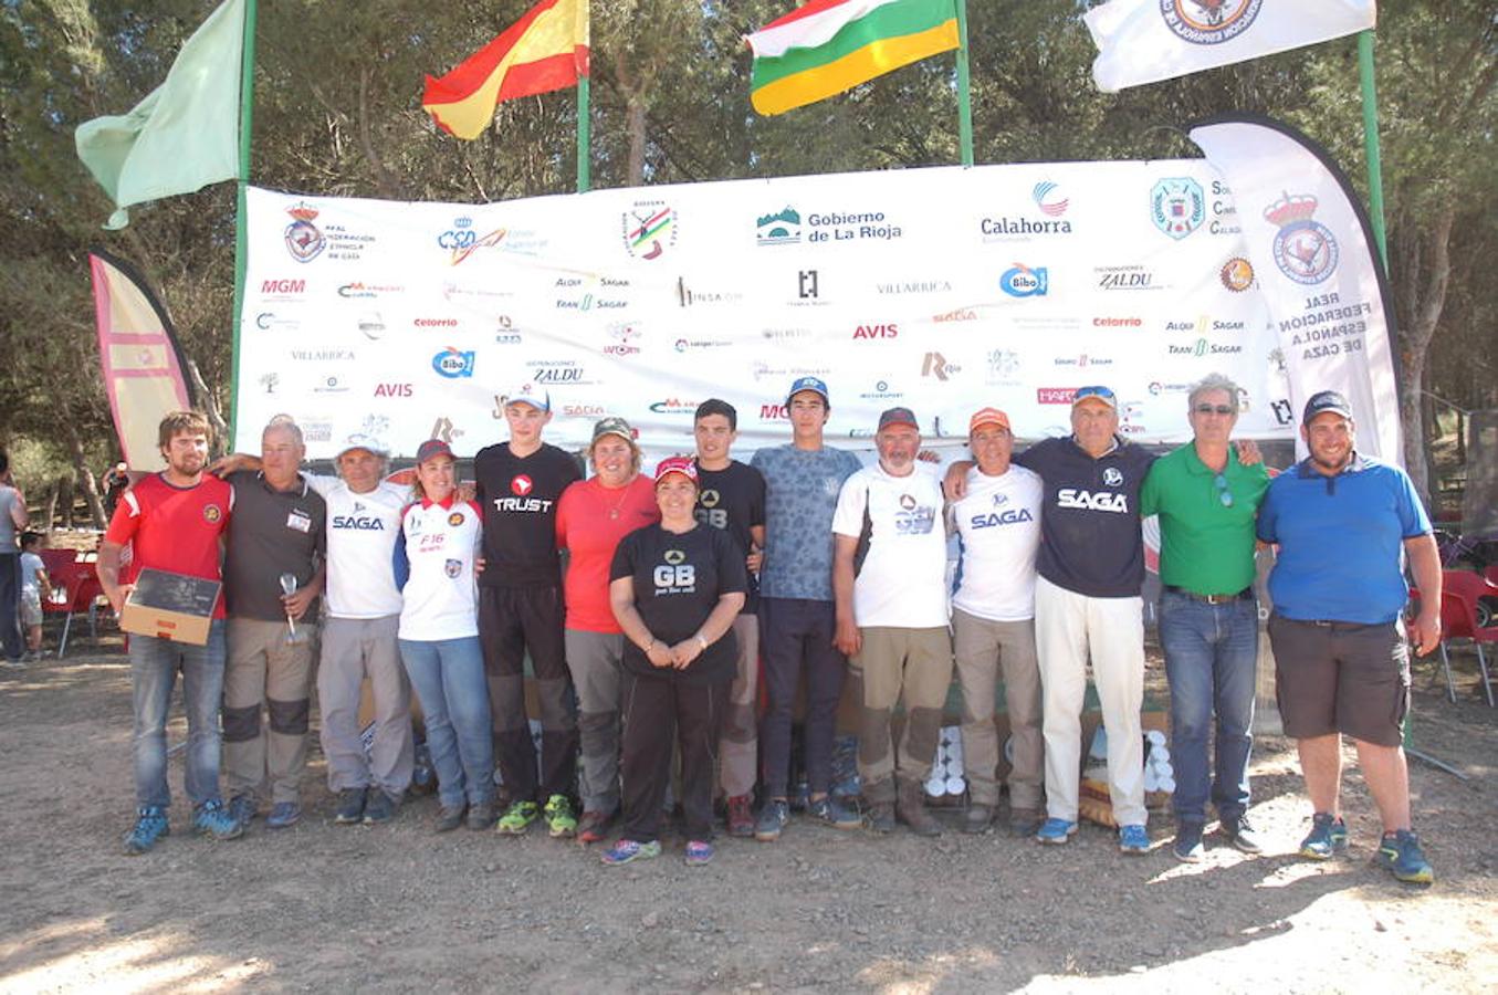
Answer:
MULTIPOLYGON (((219 536, 229 526, 234 489, 204 474, 192 487, 174 487, 154 474, 124 492, 103 538, 118 545, 133 544, 120 583, 133 583, 145 569, 223 580, 219 563, 219 536)), ((213 617, 225 617, 223 598, 213 607, 213 617)))

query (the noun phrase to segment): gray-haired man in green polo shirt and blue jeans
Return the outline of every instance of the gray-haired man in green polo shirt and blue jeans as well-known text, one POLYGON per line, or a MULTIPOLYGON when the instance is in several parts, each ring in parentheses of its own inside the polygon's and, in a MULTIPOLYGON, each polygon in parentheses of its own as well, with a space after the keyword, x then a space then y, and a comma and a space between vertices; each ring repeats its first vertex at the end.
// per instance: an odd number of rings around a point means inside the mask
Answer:
POLYGON ((1192 863, 1204 856, 1209 794, 1228 841, 1243 853, 1260 851, 1248 821, 1248 757, 1258 662, 1254 517, 1269 474, 1263 463, 1245 466, 1228 442, 1237 399, 1237 385, 1218 373, 1192 387, 1186 418, 1195 438, 1156 460, 1140 492, 1140 514, 1159 515, 1159 643, 1170 680, 1174 853, 1192 863), (1213 727, 1215 763, 1209 766, 1213 727))

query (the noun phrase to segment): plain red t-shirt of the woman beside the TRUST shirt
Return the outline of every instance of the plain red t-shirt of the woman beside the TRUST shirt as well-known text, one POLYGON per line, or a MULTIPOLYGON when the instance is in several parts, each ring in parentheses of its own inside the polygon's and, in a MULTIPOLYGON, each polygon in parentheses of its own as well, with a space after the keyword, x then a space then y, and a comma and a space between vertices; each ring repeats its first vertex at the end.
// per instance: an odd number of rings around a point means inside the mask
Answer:
POLYGON ((661 520, 655 483, 635 477, 629 484, 605 489, 596 477, 562 492, 557 502, 557 547, 571 553, 562 595, 566 598, 566 628, 584 632, 620 632, 608 602, 608 568, 619 541, 661 520))

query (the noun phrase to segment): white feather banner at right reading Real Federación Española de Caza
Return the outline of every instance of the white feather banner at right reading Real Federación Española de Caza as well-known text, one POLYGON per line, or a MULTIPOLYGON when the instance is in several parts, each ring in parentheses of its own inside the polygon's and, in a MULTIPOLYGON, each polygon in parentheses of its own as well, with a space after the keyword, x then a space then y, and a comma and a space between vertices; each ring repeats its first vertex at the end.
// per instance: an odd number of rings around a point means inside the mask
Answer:
MULTIPOLYGON (((1357 448, 1402 466, 1392 310, 1347 178, 1305 135, 1282 124, 1210 123, 1191 129, 1191 141, 1237 199, 1296 418, 1317 391, 1341 391, 1357 420, 1357 448)), ((1296 451, 1305 456, 1300 439, 1296 451)))

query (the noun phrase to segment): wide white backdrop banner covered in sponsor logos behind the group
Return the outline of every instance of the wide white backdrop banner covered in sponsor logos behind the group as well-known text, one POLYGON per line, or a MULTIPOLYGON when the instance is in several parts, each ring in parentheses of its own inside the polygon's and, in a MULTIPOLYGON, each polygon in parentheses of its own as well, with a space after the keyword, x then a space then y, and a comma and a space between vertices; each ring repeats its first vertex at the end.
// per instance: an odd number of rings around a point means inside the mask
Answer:
POLYGON ((692 411, 722 397, 748 453, 788 439, 804 375, 830 387, 828 439, 854 448, 894 405, 936 445, 989 405, 1020 438, 1068 432, 1089 384, 1118 391, 1128 438, 1180 442, 1209 372, 1242 387, 1239 435, 1287 439, 1263 255, 1200 159, 484 205, 252 189, 234 445, 255 451, 285 412, 313 459, 351 441, 409 457, 433 436, 472 456, 533 381, 559 445, 611 414, 655 454, 691 451, 692 411))

